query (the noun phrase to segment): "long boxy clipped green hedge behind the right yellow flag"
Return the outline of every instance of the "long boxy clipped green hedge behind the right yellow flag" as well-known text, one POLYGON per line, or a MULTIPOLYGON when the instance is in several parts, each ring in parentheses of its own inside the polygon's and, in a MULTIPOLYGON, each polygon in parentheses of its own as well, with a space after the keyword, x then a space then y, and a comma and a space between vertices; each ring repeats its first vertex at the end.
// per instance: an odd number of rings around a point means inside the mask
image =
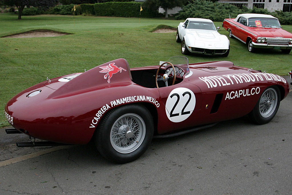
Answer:
POLYGON ((145 8, 141 11, 139 2, 107 2, 94 4, 94 13, 96 16, 115 16, 115 17, 141 17, 153 18, 158 12, 152 12, 145 8))

